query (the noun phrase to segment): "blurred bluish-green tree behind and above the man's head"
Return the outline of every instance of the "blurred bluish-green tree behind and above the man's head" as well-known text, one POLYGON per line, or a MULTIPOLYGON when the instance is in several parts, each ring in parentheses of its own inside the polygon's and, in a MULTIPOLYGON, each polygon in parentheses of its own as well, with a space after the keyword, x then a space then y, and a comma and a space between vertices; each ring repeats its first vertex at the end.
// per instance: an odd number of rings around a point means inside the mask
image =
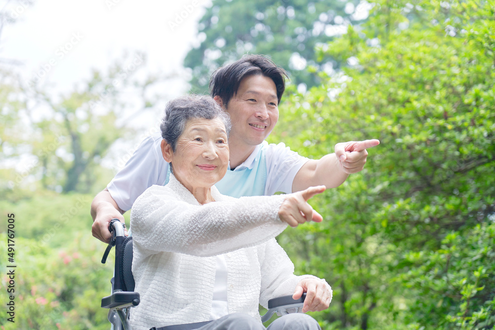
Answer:
MULTIPOLYGON (((354 8, 358 0, 347 1, 354 8)), ((192 90, 208 91, 211 73, 227 61, 245 53, 269 55, 291 73, 293 84, 314 86, 318 76, 306 65, 320 67, 338 63, 317 60, 315 46, 332 40, 346 22, 358 22, 345 11, 343 1, 224 1, 214 0, 199 21, 203 41, 186 56, 184 66, 193 70, 192 90), (296 54, 294 66, 291 57, 296 54)), ((365 17, 365 16, 364 16, 365 17)))

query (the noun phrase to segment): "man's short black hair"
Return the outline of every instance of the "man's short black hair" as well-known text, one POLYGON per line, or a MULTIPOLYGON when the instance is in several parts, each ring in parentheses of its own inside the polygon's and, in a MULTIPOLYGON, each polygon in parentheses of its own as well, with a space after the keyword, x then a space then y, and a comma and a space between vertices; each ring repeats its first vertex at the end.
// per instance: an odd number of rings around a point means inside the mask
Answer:
POLYGON ((277 89, 278 103, 285 91, 287 72, 263 55, 244 55, 240 60, 217 69, 211 75, 210 95, 220 96, 226 107, 237 93, 241 81, 249 76, 262 75, 270 78, 277 89))

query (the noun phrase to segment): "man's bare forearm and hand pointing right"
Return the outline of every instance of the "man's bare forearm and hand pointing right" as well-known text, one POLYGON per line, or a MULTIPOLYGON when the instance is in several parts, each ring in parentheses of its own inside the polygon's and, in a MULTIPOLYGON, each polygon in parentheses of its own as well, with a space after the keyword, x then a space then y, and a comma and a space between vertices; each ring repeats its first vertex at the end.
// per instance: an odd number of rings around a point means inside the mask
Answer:
POLYGON ((339 187, 349 174, 363 170, 368 156, 366 149, 378 144, 378 140, 337 143, 335 153, 318 160, 309 160, 301 167, 294 178, 292 191, 320 185, 326 186, 327 189, 339 187))

